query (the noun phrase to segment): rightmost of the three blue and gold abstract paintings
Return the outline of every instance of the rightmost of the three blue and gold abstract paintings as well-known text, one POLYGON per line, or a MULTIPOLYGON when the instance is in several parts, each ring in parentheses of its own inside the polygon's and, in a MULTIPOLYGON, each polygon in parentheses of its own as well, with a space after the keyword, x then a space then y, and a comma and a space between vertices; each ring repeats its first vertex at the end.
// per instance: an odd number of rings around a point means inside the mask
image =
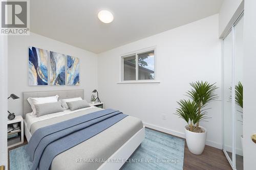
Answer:
POLYGON ((79 80, 79 58, 67 56, 67 85, 78 86, 79 80))

